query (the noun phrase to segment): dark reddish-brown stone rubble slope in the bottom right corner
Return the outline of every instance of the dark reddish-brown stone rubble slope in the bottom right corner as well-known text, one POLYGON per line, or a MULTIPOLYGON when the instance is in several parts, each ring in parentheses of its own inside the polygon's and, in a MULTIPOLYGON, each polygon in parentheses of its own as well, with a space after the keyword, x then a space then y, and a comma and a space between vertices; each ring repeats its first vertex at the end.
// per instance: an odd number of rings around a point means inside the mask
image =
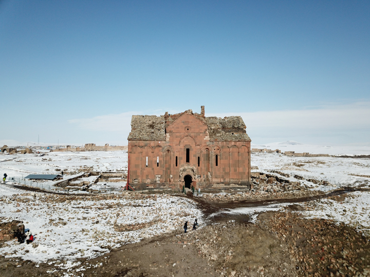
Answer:
MULTIPOLYGON (((294 205, 299 206, 299 205, 294 205)), ((266 212, 260 225, 288 245, 292 262, 304 276, 368 276, 368 236, 343 223, 304 219, 300 213, 266 212)))

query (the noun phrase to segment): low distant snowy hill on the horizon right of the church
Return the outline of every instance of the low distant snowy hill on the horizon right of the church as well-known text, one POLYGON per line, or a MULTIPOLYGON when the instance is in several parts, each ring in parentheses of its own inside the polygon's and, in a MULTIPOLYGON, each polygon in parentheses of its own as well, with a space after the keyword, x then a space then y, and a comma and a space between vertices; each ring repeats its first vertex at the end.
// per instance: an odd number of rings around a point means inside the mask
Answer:
POLYGON ((275 142, 264 145, 251 144, 252 148, 280 149, 282 152, 295 151, 297 153, 309 152, 311 154, 330 155, 370 155, 369 146, 323 146, 302 144, 294 141, 275 142))

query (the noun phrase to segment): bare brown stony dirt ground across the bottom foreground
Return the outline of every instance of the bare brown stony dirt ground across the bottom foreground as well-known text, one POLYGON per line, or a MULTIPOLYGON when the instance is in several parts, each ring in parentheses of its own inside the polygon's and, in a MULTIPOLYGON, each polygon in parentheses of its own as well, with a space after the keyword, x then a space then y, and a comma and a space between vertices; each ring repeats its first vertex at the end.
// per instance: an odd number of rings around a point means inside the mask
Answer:
MULTIPOLYGON (((201 206, 206 209, 207 203, 201 206)), ((264 212, 255 224, 247 215, 214 219, 187 234, 173 232, 96 259, 80 259, 83 271, 81 265, 67 271, 1 257, 0 276, 370 275, 366 235, 331 220, 306 219, 300 210, 299 204, 293 204, 284 212, 264 212)))

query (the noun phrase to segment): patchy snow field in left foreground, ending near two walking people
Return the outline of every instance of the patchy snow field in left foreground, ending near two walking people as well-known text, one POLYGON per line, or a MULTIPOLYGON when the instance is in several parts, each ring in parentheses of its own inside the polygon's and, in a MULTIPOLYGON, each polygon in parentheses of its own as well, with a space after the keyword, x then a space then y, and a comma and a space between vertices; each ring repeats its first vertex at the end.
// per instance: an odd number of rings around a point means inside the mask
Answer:
POLYGON ((35 262, 66 261, 60 264, 62 267, 70 266, 77 258, 93 258, 107 252, 107 248, 181 231, 185 221, 201 221, 202 216, 191 200, 167 194, 116 194, 113 199, 80 196, 69 200, 69 196, 25 193, 0 184, 0 195, 0 222, 21 220, 35 236, 30 245, 16 240, 6 243, 0 255, 22 256, 35 262), (120 232, 114 230, 115 223, 147 226, 120 232))

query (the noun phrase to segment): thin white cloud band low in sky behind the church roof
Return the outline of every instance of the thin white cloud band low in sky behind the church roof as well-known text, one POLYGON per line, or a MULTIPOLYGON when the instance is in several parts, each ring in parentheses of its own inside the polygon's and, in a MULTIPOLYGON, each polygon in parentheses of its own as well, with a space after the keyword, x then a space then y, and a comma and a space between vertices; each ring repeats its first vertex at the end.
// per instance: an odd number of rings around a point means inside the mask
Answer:
MULTIPOLYGON (((96 132, 116 132, 127 137, 131 131, 133 114, 157 114, 157 111, 129 111, 92 118, 68 121, 81 129, 96 132)), ((157 114, 158 115, 158 114, 157 114)), ((275 110, 235 113, 208 113, 218 117, 240 115, 247 126, 247 133, 255 141, 314 140, 316 143, 367 142, 370 135, 370 102, 347 105, 327 105, 315 109, 275 110), (322 140, 320 139, 322 137, 322 140)), ((313 141, 312 141, 313 142, 313 141)))

